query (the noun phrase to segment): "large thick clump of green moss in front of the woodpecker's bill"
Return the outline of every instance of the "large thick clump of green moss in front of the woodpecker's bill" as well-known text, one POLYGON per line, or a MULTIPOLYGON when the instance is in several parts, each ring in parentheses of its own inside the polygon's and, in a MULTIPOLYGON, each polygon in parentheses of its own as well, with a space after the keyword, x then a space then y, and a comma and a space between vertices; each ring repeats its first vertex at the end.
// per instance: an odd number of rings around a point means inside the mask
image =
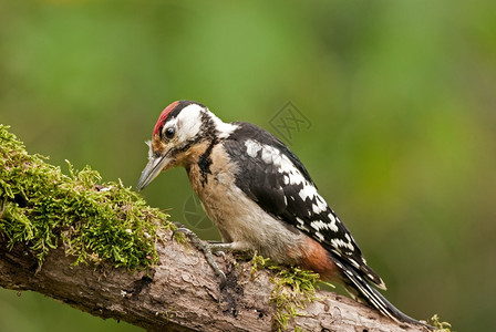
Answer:
POLYGON ((151 208, 130 188, 102 183, 85 167, 69 175, 29 155, 0 125, 0 239, 25 243, 40 264, 50 249, 64 246, 74 263, 110 261, 130 270, 157 261, 156 230, 167 215, 151 208))

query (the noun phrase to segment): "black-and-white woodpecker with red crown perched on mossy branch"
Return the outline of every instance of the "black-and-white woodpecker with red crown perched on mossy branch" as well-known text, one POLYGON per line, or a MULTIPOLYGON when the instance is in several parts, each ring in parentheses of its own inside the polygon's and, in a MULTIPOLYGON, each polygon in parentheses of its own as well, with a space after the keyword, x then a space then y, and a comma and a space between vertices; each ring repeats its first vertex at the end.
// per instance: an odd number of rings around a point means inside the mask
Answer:
POLYGON ((300 159, 269 132, 247 122, 224 123, 200 103, 176 101, 161 113, 148 145, 136 188, 142 190, 161 172, 186 168, 221 236, 213 250, 257 251, 300 266, 341 282, 355 300, 396 322, 423 324, 376 290, 385 284, 348 228, 300 159))

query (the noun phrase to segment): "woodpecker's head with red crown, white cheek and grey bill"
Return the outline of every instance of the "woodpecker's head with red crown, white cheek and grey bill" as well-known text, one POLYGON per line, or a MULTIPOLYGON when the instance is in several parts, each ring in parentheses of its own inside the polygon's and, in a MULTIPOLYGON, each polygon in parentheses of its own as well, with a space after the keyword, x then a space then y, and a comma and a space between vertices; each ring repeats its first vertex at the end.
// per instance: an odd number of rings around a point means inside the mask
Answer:
POLYGON ((229 124, 223 123, 196 102, 177 101, 165 107, 148 142, 148 164, 136 189, 145 188, 161 172, 176 166, 187 167, 194 156, 205 149, 226 126, 229 128, 229 124))

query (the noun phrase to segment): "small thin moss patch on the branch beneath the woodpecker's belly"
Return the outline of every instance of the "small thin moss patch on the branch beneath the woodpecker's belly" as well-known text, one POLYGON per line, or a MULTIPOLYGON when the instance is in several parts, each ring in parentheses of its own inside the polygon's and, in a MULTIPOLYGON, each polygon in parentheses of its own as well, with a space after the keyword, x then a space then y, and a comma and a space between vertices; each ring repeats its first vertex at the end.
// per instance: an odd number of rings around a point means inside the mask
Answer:
MULTIPOLYGON (((282 267, 271 262, 269 258, 255 253, 251 260, 251 278, 255 278, 256 272, 264 268, 275 273, 270 280, 275 284, 270 301, 276 304, 272 328, 277 331, 285 330, 291 319, 301 315, 298 310, 304 309, 308 303, 317 299, 319 284, 333 287, 331 283, 321 281, 319 273, 298 267, 282 267)), ((294 331, 301 331, 301 328, 297 325, 294 331)))

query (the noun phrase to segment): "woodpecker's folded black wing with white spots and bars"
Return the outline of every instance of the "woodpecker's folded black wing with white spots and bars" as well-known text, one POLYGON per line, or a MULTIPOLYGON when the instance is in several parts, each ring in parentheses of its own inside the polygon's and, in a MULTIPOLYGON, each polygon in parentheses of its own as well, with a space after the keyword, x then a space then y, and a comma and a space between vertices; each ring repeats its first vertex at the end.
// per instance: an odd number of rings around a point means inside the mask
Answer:
POLYGON ((342 259, 373 283, 381 278, 366 264, 350 231, 317 193, 300 159, 277 137, 249 123, 224 141, 227 153, 239 160, 236 185, 265 211, 297 227, 319 241, 337 259, 342 259))

